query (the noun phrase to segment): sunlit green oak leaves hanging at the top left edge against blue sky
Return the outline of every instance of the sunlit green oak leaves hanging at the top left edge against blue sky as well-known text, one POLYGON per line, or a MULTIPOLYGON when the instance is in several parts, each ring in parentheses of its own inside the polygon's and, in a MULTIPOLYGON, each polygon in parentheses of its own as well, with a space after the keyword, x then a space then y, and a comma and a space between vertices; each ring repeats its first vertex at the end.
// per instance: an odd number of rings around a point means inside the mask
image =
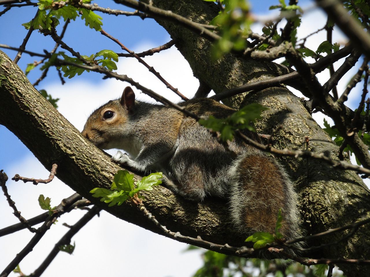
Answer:
MULTIPOLYGON (((82 0, 83 3, 90 3, 90 0, 82 0)), ((47 29, 55 28, 59 25, 59 19, 63 18, 75 20, 80 16, 85 20, 85 25, 94 28, 97 31, 101 30, 103 23, 102 17, 98 16, 91 10, 82 7, 74 7, 68 3, 54 2, 53 0, 39 0, 38 1, 38 14, 28 23, 22 24, 27 30, 32 26, 34 29, 47 29)))

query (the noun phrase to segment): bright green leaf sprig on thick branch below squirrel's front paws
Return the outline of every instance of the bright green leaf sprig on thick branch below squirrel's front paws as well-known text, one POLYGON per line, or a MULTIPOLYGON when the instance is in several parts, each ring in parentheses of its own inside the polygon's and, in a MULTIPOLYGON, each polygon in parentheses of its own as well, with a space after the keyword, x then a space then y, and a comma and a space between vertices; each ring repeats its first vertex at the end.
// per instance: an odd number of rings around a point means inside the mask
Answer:
MULTIPOLYGON (((101 197, 100 201, 109 203, 108 206, 122 205, 127 199, 138 195, 141 190, 151 191, 153 186, 162 184, 160 180, 162 172, 155 172, 143 177, 141 180, 134 183, 134 175, 129 174, 127 170, 118 170, 114 175, 114 182, 111 189, 93 188, 90 193, 94 197, 101 197)), ((138 195, 142 198, 141 195, 138 195)))

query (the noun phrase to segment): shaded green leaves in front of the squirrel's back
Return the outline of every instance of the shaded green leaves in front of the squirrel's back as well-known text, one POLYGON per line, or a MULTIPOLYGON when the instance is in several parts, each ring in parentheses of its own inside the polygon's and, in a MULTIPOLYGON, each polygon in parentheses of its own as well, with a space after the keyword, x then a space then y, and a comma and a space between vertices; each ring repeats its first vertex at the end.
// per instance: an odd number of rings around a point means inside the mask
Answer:
POLYGON ((252 123, 260 119, 262 112, 265 110, 268 110, 268 108, 258 103, 252 103, 236 111, 225 119, 217 119, 210 116, 208 119, 200 119, 199 124, 212 131, 218 131, 220 133, 221 140, 231 141, 235 136, 236 129, 247 129, 255 132, 256 130, 252 123))

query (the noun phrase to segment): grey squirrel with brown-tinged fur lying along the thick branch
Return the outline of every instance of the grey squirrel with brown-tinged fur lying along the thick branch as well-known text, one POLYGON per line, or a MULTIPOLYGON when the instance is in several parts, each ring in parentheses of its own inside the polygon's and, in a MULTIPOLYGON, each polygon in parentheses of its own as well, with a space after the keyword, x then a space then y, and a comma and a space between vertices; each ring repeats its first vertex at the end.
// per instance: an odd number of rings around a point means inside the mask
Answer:
MULTIPOLYGON (((225 118, 235 110, 207 98, 179 105, 205 116, 225 118)), ((244 133, 258 140, 253 132, 244 133)), ((196 120, 164 105, 135 101, 126 87, 122 97, 95 110, 82 134, 101 149, 118 148, 112 160, 135 170, 164 173, 174 192, 193 201, 206 196, 229 199, 236 228, 244 233, 275 232, 282 209, 280 232, 288 239, 299 236, 296 193, 281 165, 238 138, 225 148, 196 120)))

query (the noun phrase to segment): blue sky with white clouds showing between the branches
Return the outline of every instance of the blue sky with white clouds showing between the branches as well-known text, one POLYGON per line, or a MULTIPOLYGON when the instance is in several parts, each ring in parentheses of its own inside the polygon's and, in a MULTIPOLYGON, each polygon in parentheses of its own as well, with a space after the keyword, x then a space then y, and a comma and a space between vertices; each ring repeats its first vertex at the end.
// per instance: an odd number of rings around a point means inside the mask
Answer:
MULTIPOLYGON (((129 10, 123 6, 115 4, 113 1, 94 1, 103 7, 120 8, 129 10), (108 5, 108 6, 107 6, 108 5)), ((277 4, 278 1, 265 0, 250 1, 252 12, 260 20, 273 18, 275 15, 268 10, 268 7, 277 4)), ((306 15, 303 17, 300 37, 312 33, 317 28, 323 27, 326 17, 319 10, 311 11, 311 1, 300 1, 306 7, 306 15)), ((2 8, 0 8, 0 11, 2 8)), ((0 44, 7 44, 18 47, 27 31, 21 26, 33 18, 36 13, 35 8, 12 8, 9 12, 0 17, 0 25, 6 24, 6 28, 0 28, 0 44), (14 35, 9 35, 14 34, 14 35)), ((256 30, 260 26, 256 26, 256 30)), ((112 36, 117 37, 126 47, 141 52, 153 47, 162 45, 170 40, 168 33, 160 27, 154 20, 141 20, 137 17, 125 16, 104 16, 103 29, 112 36)), ((346 42, 346 38, 340 32, 336 32, 334 40, 339 38, 346 42)), ((101 49, 111 49, 121 52, 120 47, 100 33, 85 27, 84 22, 77 18, 68 26, 67 33, 63 39, 69 46, 79 51, 81 54, 94 54, 101 49), (75 31, 77 30, 77 31, 75 31), (104 48, 102 48, 104 47, 104 48)), ((313 41, 323 41, 322 34, 317 35, 313 41)), ((50 51, 54 43, 50 38, 34 32, 27 44, 27 50, 41 52, 42 49, 50 51)), ((317 47, 317 46, 316 46, 317 47)), ((6 52, 11 59, 16 55, 16 51, 0 48, 6 52)), ((38 60, 37 57, 30 57, 23 54, 19 61, 21 69, 25 69, 27 63, 38 60)), ((172 47, 151 57, 146 57, 145 61, 154 66, 161 75, 175 88, 178 88, 187 96, 192 96, 198 88, 198 81, 192 75, 189 65, 179 52, 172 47)), ((165 86, 154 78, 141 64, 132 58, 121 58, 118 62, 118 73, 127 74, 130 78, 141 83, 141 85, 151 88, 155 92, 169 96, 169 91, 165 86)), ((41 74, 39 69, 34 69, 28 78, 34 82, 41 74)), ((327 75, 320 76, 322 82, 327 75)), ((60 98, 58 110, 62 113, 78 130, 82 130, 89 114, 108 100, 118 98, 126 84, 112 79, 102 79, 97 73, 83 73, 73 79, 66 79, 62 86, 55 70, 51 69, 47 78, 37 86, 37 89, 46 89, 53 98, 60 98), (73 100, 71 100, 73 99, 73 100)), ((345 81, 339 86, 344 86, 345 81)), ((141 97, 142 95, 139 95, 141 97)), ((176 101, 179 99, 172 98, 176 101)), ((356 104, 357 105, 357 104, 356 104)), ((317 115, 317 121, 322 123, 322 116, 317 115)), ((0 169, 4 169, 11 178, 15 174, 34 178, 47 178, 49 172, 36 160, 33 154, 5 127, 0 126, 0 169)), ((114 154, 114 151, 110 152, 114 154)), ((38 207, 38 195, 43 194, 51 198, 51 205, 58 205, 61 199, 73 194, 73 191, 57 178, 49 184, 38 184, 34 186, 30 183, 7 182, 9 194, 16 202, 17 208, 25 218, 31 218, 43 211, 38 207)), ((0 197, 0 228, 18 223, 12 215, 11 208, 7 205, 5 197, 0 197)), ((43 237, 41 242, 34 248, 21 263, 20 268, 25 274, 33 272, 40 262, 46 257, 54 244, 60 239, 67 228, 62 226, 66 222, 74 224, 84 211, 71 212, 60 218, 57 225, 52 226, 51 230, 43 237)), ((172 230, 179 231, 181 230, 172 230)), ((32 235, 23 230, 8 236, 0 237, 0 270, 13 259, 26 245, 32 235)), ((163 236, 154 234, 138 226, 114 218, 107 212, 101 212, 100 217, 91 220, 77 235, 72 239, 76 248, 72 255, 59 253, 56 259, 48 267, 44 276, 132 276, 141 275, 152 277, 189 277, 202 265, 201 252, 195 250, 186 252, 187 244, 176 242, 163 236), (113 265, 113 266, 112 266, 113 265)), ((15 276, 13 273, 10 276, 15 276)))

